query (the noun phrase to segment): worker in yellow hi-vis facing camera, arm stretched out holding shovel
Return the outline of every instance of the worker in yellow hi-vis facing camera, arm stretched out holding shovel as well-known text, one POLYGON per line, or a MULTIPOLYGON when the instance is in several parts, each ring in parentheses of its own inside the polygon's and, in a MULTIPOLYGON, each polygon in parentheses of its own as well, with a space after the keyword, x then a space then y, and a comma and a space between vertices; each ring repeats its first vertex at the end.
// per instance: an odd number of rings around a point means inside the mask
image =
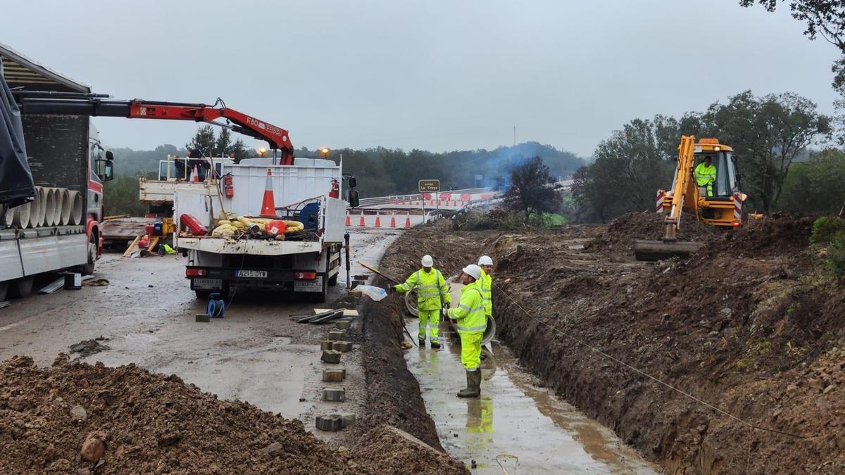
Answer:
POLYGON ((431 347, 439 348, 438 333, 440 325, 440 312, 445 306, 449 308, 452 298, 449 295, 449 286, 443 278, 443 273, 434 269, 434 259, 428 254, 423 256, 421 262, 423 269, 417 270, 411 276, 408 276, 405 283, 393 286, 396 292, 411 292, 417 289, 417 310, 419 311, 420 329, 419 329, 419 343, 420 347, 425 347, 425 340, 428 325, 431 326, 428 331, 431 332, 431 347))

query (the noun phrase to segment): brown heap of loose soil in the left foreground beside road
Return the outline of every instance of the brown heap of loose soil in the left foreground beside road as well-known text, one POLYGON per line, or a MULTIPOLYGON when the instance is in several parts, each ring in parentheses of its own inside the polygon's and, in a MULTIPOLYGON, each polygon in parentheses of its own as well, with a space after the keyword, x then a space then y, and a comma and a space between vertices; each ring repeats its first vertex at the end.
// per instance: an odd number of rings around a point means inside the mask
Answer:
POLYGON ((220 401, 175 375, 134 365, 0 363, 4 473, 374 473, 399 472, 422 463, 419 457, 435 472, 454 467, 428 455, 405 460, 373 450, 374 458, 333 450, 297 420, 220 401), (84 446, 88 461, 80 456, 84 446))

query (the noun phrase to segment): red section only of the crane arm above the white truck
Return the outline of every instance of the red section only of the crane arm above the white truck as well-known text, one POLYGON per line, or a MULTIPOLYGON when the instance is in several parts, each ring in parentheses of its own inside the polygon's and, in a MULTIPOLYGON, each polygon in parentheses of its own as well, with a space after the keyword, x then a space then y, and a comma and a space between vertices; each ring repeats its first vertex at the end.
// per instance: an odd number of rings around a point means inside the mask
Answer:
POLYGON ((195 122, 216 123, 215 119, 225 118, 237 124, 232 128, 256 139, 266 140, 271 149, 281 150, 281 165, 293 164, 293 145, 287 130, 248 116, 229 107, 207 106, 205 104, 183 104, 177 102, 149 102, 134 99, 129 103, 129 118, 148 118, 165 120, 193 120, 195 122))

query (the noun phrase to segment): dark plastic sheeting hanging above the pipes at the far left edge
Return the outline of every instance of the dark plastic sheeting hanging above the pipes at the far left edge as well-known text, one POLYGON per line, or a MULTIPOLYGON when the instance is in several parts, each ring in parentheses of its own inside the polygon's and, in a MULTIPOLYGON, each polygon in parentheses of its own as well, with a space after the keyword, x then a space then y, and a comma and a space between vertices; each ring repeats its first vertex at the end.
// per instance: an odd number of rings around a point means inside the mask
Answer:
POLYGON ((30 164, 26 161, 24 126, 20 111, 3 77, 0 59, 0 204, 9 208, 35 196, 30 164))

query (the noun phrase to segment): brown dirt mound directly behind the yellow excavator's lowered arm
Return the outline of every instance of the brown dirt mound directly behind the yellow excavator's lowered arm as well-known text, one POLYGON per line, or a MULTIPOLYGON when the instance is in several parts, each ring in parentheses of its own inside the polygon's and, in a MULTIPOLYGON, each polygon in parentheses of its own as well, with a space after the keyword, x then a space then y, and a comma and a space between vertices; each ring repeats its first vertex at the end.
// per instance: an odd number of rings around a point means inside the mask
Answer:
MULTIPOLYGON (((648 211, 619 216, 608 225, 604 232, 598 232, 596 238, 586 245, 586 249, 591 252, 633 258, 636 240, 663 238, 666 233, 664 219, 662 214, 648 211)), ((681 215, 678 237, 681 240, 706 243, 719 238, 721 234, 719 229, 696 220, 695 216, 681 215)))

